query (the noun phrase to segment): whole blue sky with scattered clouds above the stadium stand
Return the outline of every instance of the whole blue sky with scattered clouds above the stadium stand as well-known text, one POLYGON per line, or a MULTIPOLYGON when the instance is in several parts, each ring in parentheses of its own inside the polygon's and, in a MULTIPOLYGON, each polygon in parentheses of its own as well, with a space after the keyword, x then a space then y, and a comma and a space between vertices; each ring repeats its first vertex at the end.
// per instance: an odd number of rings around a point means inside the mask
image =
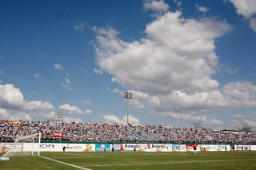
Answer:
POLYGON ((254 0, 0 1, 0 120, 256 129, 254 0))

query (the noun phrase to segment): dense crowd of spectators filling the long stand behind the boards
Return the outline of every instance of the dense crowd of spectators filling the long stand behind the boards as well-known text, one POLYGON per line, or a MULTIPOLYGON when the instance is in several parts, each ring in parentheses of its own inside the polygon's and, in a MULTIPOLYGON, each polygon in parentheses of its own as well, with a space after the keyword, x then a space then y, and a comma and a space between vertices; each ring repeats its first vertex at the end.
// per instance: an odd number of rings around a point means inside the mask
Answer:
POLYGON ((226 143, 256 144, 256 132, 231 132, 210 128, 186 128, 163 125, 126 125, 110 123, 52 123, 49 121, 0 121, 0 141, 11 142, 17 136, 42 133, 42 141, 136 142, 136 143, 226 143), (64 136, 54 137, 53 132, 64 136))

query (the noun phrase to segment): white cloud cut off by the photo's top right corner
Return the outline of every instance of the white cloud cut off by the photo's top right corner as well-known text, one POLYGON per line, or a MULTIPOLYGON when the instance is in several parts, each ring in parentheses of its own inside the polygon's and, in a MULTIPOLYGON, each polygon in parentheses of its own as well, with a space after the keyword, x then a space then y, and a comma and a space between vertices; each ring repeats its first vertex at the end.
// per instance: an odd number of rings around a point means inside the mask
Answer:
POLYGON ((237 9, 237 14, 241 14, 245 18, 250 18, 252 14, 256 13, 255 0, 230 0, 237 9))

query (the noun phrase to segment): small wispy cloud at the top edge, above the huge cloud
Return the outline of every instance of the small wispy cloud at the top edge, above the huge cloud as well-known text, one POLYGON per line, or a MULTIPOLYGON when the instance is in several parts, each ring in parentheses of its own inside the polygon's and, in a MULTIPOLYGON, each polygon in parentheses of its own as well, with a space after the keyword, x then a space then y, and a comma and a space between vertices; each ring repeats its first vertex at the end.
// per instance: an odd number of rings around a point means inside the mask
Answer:
POLYGON ((144 0, 143 7, 145 10, 155 10, 162 13, 166 13, 169 9, 168 4, 163 0, 144 0))

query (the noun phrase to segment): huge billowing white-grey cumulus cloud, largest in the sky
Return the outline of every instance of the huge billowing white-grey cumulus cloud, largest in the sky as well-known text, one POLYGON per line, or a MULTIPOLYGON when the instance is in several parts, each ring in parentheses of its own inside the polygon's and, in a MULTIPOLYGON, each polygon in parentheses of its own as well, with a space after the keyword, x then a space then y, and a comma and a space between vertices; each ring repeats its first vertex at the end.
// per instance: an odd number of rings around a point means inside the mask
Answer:
MULTIPOLYGON (((186 19, 181 11, 167 12, 146 25, 146 38, 134 42, 122 41, 110 26, 94 26, 93 30, 98 65, 113 76, 112 80, 133 89, 129 103, 134 108, 150 106, 162 116, 206 121, 207 114, 226 106, 238 107, 245 98, 248 105, 256 106, 254 85, 240 82, 250 93, 244 91, 246 96, 234 99, 233 91, 242 93, 239 82, 220 89, 212 78, 218 69, 215 40, 231 30, 224 21, 186 19), (197 115, 202 110, 206 115, 197 115)), ((110 91, 123 95, 119 89, 110 91)), ((210 124, 222 125, 222 121, 212 119, 210 124)))

